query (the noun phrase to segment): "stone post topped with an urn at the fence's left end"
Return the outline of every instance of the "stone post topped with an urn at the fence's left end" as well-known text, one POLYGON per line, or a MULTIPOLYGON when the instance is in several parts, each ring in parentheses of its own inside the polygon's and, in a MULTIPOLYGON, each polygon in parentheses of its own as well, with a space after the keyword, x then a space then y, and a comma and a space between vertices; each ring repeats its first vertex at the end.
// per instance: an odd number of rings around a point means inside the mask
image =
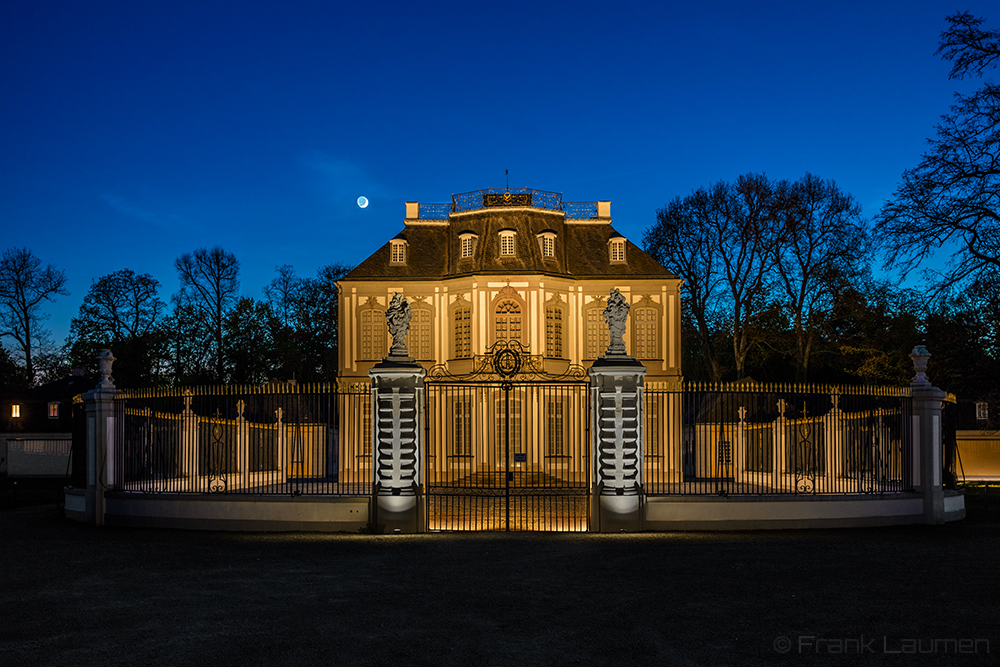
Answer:
POLYGON ((101 381, 83 396, 87 413, 87 523, 104 525, 104 491, 114 484, 114 397, 111 380, 114 355, 101 350, 97 356, 101 381))

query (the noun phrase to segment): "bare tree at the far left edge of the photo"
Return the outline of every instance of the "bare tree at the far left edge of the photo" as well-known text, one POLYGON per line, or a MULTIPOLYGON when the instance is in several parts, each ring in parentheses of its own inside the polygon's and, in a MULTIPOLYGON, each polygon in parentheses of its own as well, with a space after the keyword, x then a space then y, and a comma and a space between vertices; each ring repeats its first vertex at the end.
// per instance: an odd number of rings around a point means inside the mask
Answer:
POLYGON ((44 301, 67 295, 66 276, 42 262, 27 248, 5 250, 0 259, 0 338, 9 336, 24 358, 27 381, 35 381, 34 354, 45 331, 44 301))

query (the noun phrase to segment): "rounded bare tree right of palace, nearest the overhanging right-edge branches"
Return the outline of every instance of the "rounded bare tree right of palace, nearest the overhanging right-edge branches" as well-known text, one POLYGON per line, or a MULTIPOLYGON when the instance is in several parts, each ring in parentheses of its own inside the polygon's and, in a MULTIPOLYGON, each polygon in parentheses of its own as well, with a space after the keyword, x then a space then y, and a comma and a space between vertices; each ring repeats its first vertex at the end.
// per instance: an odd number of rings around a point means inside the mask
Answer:
POLYGON ((774 268, 795 337, 797 379, 805 382, 838 287, 867 267, 868 231, 854 198, 812 174, 779 183, 773 211, 783 232, 774 268))

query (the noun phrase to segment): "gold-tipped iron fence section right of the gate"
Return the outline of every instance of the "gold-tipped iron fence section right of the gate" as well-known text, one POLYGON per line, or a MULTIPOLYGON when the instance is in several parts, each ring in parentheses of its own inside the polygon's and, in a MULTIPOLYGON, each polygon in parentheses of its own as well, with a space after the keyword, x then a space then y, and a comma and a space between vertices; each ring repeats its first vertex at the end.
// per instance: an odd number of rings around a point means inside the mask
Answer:
POLYGON ((913 488, 908 389, 650 383, 644 400, 650 495, 913 488))

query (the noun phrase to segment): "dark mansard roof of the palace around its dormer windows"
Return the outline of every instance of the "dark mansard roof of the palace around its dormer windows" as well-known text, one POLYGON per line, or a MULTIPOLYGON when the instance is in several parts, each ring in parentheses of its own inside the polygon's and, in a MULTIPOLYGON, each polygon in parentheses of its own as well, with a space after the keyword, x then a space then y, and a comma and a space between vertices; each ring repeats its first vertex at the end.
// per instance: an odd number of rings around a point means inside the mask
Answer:
MULTIPOLYGON (((412 206, 412 208, 411 208, 412 206)), ((624 238, 611 218, 566 219, 561 210, 541 207, 479 208, 421 219, 408 205, 406 226, 396 235, 405 239, 405 264, 389 263, 387 242, 342 280, 402 278, 440 280, 470 274, 547 274, 568 278, 675 278, 635 244, 626 240, 625 262, 610 261, 608 241, 624 238), (500 254, 501 230, 516 232, 513 256, 500 254), (459 235, 477 236, 473 256, 462 258, 459 235), (544 257, 537 235, 555 233, 555 256, 544 257)), ((595 211, 598 210, 594 207, 595 211)), ((610 203, 606 211, 610 212, 610 203)), ((603 212, 603 211, 602 211, 603 212)))

